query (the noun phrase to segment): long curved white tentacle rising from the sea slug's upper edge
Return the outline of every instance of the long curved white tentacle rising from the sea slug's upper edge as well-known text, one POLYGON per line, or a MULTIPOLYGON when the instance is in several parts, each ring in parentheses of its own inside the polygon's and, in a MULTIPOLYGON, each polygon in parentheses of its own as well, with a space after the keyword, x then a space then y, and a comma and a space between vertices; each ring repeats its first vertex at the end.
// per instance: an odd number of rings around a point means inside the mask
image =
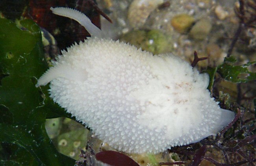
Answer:
POLYGON ((54 14, 68 17, 79 22, 81 25, 83 25, 83 27, 85 27, 89 34, 91 34, 91 37, 95 36, 97 38, 106 38, 105 34, 98 27, 96 27, 85 14, 81 13, 80 11, 71 9, 69 7, 51 7, 50 9, 54 14))

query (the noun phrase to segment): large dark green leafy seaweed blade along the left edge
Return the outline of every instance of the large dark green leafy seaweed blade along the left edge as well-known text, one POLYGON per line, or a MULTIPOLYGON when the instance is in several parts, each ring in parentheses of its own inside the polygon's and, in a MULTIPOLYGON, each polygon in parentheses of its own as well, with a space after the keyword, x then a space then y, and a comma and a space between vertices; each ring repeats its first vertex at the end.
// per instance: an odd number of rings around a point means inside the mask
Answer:
POLYGON ((15 24, 0 19, 0 165, 72 165, 74 160, 54 147, 45 119, 70 117, 35 88, 47 69, 41 32, 32 20, 15 24))

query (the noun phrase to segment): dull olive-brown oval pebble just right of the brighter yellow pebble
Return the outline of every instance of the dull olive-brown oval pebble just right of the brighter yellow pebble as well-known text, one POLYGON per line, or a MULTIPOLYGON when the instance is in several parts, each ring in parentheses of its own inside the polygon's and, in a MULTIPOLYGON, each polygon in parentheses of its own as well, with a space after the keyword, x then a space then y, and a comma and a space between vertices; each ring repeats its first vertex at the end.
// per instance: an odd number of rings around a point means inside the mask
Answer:
POLYGON ((199 20, 189 32, 189 35, 195 40, 204 40, 211 31, 210 20, 199 20))

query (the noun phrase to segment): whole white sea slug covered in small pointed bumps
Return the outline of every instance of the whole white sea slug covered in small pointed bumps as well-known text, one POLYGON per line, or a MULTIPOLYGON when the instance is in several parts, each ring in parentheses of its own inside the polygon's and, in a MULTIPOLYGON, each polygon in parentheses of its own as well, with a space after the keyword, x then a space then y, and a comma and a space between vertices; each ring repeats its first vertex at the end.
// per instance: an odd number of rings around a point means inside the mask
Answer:
POLYGON ((210 97, 208 75, 186 61, 106 39, 74 9, 51 10, 92 37, 62 51, 36 86, 50 82, 54 102, 113 148, 158 153, 215 135, 234 118, 210 97))

